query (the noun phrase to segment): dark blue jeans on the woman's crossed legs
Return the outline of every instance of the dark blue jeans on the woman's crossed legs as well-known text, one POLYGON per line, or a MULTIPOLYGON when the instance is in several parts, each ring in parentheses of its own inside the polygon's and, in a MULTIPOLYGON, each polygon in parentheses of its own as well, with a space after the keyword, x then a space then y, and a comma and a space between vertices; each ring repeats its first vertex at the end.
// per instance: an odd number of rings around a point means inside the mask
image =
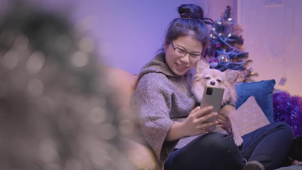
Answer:
POLYGON ((171 169, 232 169, 241 170, 248 161, 257 160, 266 170, 277 168, 286 158, 294 139, 292 128, 275 122, 244 135, 237 147, 228 135, 208 133, 172 152, 164 164, 171 169))

